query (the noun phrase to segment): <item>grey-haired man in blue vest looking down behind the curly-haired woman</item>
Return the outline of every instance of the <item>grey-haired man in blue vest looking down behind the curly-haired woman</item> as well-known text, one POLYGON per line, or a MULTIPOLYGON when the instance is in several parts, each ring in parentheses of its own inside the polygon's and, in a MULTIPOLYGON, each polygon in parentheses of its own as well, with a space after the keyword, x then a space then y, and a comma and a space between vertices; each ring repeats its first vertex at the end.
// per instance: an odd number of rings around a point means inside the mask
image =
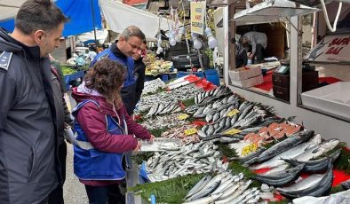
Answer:
POLYGON ((96 61, 100 59, 109 58, 120 62, 123 66, 127 67, 127 75, 123 83, 121 90, 123 104, 129 115, 133 114, 135 108, 135 91, 136 80, 134 77, 134 59, 132 55, 141 53, 142 42, 146 41, 145 35, 139 29, 139 27, 131 26, 127 27, 123 33, 119 36, 119 40, 111 45, 110 48, 100 52, 95 59, 92 60, 92 67, 96 61))

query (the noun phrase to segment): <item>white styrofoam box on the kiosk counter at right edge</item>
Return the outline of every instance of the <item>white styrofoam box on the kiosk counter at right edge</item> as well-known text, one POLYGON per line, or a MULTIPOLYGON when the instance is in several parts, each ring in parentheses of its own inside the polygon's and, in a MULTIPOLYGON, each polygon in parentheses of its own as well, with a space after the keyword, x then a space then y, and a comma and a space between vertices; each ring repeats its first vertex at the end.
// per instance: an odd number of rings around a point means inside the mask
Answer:
POLYGON ((350 82, 336 82, 301 94, 303 105, 350 119, 350 82))

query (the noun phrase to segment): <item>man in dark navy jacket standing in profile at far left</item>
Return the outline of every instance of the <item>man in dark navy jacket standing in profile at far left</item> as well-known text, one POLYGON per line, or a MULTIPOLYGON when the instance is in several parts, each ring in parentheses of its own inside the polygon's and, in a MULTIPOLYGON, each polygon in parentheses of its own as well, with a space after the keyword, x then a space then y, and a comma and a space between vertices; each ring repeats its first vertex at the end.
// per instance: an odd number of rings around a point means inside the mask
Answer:
POLYGON ((50 0, 21 5, 0 30, 0 202, 42 204, 60 183, 50 60, 68 19, 50 0))

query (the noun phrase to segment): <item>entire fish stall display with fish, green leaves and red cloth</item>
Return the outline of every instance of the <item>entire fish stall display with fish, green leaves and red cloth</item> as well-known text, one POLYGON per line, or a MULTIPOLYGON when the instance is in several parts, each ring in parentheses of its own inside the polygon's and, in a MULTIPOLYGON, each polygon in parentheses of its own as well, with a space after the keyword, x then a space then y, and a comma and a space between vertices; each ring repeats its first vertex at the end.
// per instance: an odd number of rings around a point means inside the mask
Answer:
MULTIPOLYGON (((165 87, 173 93, 196 89, 195 82, 174 88, 177 83, 165 87)), ((177 114, 166 111, 175 108, 171 102, 143 109, 140 122, 169 143, 145 144, 134 157, 140 182, 129 193, 144 201, 192 204, 348 199, 350 152, 341 140, 225 86, 197 90, 179 102, 177 114)))

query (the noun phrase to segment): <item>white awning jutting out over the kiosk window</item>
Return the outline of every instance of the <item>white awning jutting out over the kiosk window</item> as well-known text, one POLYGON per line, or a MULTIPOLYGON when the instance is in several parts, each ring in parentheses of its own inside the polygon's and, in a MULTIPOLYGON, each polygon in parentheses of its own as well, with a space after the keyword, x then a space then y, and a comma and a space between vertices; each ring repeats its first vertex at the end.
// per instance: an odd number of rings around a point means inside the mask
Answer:
POLYGON ((252 8, 235 13, 234 20, 237 24, 257 24, 274 22, 282 17, 290 17, 310 12, 319 11, 302 4, 296 4, 288 0, 269 0, 256 4, 252 8))

